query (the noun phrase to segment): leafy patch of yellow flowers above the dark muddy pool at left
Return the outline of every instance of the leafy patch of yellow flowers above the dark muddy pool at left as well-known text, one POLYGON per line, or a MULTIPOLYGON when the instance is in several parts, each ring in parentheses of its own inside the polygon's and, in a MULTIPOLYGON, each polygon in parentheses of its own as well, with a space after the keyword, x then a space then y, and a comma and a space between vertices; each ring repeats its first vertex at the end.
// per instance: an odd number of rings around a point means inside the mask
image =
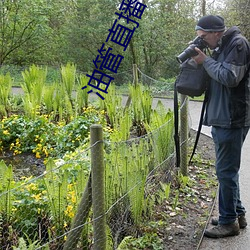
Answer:
POLYGON ((88 140, 90 126, 102 122, 102 116, 93 108, 85 109, 70 123, 54 123, 48 115, 31 119, 12 115, 0 121, 0 149, 14 155, 33 152, 37 158, 60 156, 73 151, 88 140))

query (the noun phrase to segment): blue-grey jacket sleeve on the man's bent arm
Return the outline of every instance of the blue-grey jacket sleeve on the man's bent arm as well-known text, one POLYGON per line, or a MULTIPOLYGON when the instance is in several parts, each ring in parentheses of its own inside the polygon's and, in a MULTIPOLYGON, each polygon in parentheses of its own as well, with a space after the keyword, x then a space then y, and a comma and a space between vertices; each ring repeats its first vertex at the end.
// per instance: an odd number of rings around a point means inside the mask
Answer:
POLYGON ((227 87, 238 86, 249 67, 249 46, 244 38, 235 39, 227 48, 224 58, 218 61, 207 57, 203 66, 209 76, 227 87), (223 60, 220 62, 220 60, 223 60))

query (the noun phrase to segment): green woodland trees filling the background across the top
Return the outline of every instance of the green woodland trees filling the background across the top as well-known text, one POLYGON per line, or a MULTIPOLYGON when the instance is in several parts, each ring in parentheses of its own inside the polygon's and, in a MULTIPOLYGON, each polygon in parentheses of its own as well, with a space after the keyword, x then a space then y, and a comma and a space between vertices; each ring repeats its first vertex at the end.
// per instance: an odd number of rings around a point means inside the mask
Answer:
MULTIPOLYGON (((122 0, 5 0, 0 2, 0 64, 61 65, 73 62, 83 72, 93 69, 93 59, 117 18, 122 0)), ((147 9, 123 52, 121 72, 135 63, 159 79, 177 74, 175 59, 195 37, 197 19, 220 14, 226 25, 239 25, 249 38, 247 0, 144 0, 147 9)), ((125 79, 118 78, 124 82, 125 79)))

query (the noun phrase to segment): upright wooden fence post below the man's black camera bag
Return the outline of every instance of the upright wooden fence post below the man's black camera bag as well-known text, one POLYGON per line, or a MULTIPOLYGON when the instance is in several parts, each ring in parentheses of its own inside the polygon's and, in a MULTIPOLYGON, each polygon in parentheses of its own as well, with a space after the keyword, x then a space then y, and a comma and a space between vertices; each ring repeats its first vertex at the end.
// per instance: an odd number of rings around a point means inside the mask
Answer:
POLYGON ((188 174, 188 97, 181 96, 180 109, 180 168, 181 174, 187 176, 188 174))

